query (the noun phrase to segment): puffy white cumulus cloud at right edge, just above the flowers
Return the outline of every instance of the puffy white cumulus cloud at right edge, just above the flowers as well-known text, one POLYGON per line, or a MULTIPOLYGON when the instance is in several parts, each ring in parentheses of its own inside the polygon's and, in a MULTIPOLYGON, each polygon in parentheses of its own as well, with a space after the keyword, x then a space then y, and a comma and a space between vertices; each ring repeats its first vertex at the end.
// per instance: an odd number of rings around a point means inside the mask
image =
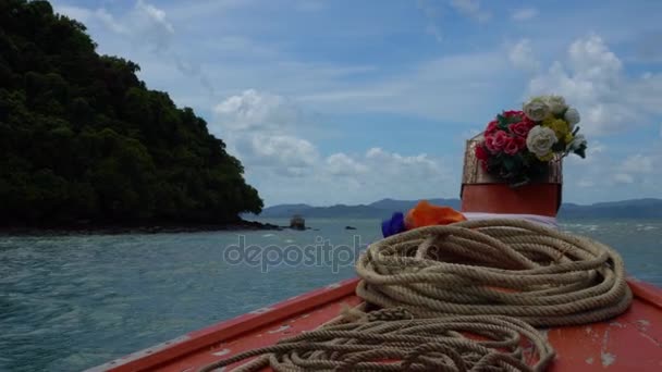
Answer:
POLYGON ((623 62, 604 40, 590 35, 575 40, 565 61, 537 74, 529 95, 559 94, 581 113, 585 133, 612 134, 650 124, 662 108, 662 75, 627 76, 623 62))

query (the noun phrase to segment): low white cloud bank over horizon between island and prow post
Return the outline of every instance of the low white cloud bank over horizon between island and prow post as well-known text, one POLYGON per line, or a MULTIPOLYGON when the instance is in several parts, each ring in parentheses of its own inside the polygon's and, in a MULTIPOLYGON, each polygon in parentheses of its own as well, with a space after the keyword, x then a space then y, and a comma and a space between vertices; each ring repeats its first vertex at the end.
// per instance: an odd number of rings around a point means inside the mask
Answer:
POLYGON ((317 163, 304 177, 270 176, 255 178, 267 203, 310 202, 319 204, 365 203, 380 198, 424 198, 454 195, 458 181, 441 159, 426 154, 402 156, 381 148, 364 154, 333 153, 317 163))

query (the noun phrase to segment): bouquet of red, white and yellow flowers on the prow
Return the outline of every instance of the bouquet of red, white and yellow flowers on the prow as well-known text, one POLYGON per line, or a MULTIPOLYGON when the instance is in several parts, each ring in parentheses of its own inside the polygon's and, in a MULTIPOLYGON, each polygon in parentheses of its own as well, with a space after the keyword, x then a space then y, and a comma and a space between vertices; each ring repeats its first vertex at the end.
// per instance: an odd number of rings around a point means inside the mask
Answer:
POLYGON ((571 152, 586 157, 579 119, 561 96, 535 97, 522 111, 504 111, 488 124, 476 158, 483 171, 512 186, 527 184, 543 175, 550 161, 571 152))

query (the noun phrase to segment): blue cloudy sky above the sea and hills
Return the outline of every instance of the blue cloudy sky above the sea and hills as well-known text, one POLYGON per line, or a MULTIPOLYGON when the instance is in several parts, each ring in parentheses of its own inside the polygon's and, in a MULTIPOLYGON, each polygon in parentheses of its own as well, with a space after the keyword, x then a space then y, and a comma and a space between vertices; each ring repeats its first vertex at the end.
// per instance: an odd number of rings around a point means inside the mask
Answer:
POLYGON ((245 166, 266 206, 459 196, 465 141, 556 94, 563 199, 662 198, 662 1, 54 0, 245 166))

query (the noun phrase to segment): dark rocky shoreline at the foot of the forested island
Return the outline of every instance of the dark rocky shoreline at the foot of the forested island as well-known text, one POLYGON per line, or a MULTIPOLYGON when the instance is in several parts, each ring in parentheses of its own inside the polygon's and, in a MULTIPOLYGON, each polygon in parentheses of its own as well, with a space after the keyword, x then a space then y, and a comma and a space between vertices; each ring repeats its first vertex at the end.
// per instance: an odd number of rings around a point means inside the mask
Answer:
POLYGON ((229 223, 154 223, 154 224, 96 224, 45 226, 0 226, 2 235, 117 235, 117 234, 176 234, 198 232, 280 231, 282 226, 257 221, 240 220, 229 223))

